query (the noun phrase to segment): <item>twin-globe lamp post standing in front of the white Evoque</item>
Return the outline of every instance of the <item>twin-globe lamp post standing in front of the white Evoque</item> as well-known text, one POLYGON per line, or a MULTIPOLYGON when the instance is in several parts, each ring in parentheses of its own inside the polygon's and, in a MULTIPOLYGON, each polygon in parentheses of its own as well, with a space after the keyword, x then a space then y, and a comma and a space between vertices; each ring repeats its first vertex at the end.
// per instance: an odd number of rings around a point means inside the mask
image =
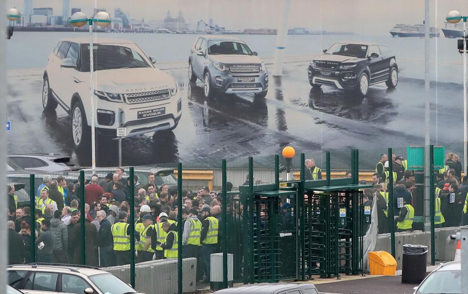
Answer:
POLYGON ((98 12, 94 18, 87 18, 82 12, 76 12, 70 17, 70 24, 74 27, 82 27, 89 25, 89 72, 90 72, 90 95, 91 95, 91 156, 93 172, 96 169, 96 99, 94 98, 94 57, 93 57, 93 22, 101 27, 109 27, 111 25, 111 17, 105 11, 98 12))

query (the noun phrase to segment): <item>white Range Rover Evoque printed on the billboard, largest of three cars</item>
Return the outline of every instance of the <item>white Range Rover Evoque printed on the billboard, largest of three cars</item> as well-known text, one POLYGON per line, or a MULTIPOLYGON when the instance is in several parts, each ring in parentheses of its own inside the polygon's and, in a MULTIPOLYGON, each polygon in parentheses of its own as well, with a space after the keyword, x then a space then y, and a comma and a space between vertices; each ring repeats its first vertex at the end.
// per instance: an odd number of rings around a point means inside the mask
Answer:
MULTIPOLYGON (((154 66, 137 44, 117 39, 99 39, 93 45, 95 125, 101 135, 117 135, 127 128, 127 137, 175 129, 182 115, 181 97, 174 78, 154 66)), ((76 147, 90 142, 89 39, 59 41, 49 55, 44 71, 42 106, 60 105, 71 116, 76 147)))

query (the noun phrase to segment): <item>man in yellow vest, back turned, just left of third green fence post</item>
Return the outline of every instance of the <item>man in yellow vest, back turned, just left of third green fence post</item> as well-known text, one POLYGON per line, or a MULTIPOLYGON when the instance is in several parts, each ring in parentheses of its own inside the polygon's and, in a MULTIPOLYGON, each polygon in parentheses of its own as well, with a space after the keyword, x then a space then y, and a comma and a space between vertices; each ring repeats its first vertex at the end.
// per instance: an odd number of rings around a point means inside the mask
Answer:
POLYGON ((118 222, 111 226, 114 239, 114 253, 117 256, 117 265, 130 264, 130 225, 127 223, 128 216, 124 211, 118 214, 118 222))

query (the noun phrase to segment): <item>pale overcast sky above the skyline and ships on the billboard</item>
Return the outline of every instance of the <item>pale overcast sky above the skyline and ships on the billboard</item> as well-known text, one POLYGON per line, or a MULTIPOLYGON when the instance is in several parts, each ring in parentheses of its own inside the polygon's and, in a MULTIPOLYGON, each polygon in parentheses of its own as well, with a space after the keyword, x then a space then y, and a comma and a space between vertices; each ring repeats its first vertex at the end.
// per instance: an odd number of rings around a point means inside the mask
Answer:
MULTIPOLYGON (((90 16, 93 8, 114 8, 146 22, 162 20, 168 10, 173 17, 182 10, 186 22, 199 19, 226 29, 276 28, 283 0, 70 0, 70 8, 81 8, 90 16), (97 5, 95 4, 97 3, 97 5)), ((388 34, 397 23, 422 23, 424 0, 291 0, 289 27, 310 30, 351 31, 362 35, 388 34)), ((24 10, 23 0, 7 0, 9 7, 24 10)), ((61 15, 61 0, 33 0, 33 7, 52 7, 61 15)), ((430 0, 431 26, 443 27, 449 10, 468 14, 468 0, 430 0)))

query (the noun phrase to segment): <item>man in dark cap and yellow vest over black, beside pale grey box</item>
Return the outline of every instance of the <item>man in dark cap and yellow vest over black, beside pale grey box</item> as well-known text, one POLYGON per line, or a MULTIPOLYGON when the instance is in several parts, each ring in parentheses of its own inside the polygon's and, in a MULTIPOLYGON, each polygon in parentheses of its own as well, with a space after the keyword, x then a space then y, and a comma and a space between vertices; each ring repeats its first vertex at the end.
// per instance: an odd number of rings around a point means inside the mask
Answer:
POLYGON ((201 236, 200 242, 201 253, 203 261, 205 262, 206 276, 203 282, 210 281, 210 257, 211 254, 218 251, 218 232, 219 232, 219 221, 211 214, 210 206, 206 205, 200 212, 200 218, 203 219, 201 222, 201 236))

